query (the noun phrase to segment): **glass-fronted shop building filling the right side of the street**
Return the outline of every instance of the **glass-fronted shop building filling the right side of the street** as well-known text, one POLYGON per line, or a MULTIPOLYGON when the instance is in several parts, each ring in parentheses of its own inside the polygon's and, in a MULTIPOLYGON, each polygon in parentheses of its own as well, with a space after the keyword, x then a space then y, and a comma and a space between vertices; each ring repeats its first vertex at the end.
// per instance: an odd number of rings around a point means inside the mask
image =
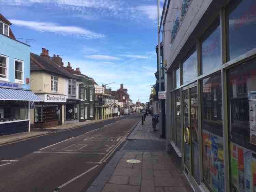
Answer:
POLYGON ((198 192, 256 191, 255 8, 164 2, 167 146, 198 192))

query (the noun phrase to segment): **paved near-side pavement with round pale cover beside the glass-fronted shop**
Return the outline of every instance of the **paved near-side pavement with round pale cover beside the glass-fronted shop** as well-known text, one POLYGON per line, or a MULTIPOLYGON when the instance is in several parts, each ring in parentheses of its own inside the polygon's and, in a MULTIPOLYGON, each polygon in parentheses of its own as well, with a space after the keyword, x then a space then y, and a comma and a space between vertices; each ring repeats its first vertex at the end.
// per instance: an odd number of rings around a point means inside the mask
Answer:
POLYGON ((174 157, 166 153, 160 131, 151 129, 148 116, 86 192, 192 192, 174 157))

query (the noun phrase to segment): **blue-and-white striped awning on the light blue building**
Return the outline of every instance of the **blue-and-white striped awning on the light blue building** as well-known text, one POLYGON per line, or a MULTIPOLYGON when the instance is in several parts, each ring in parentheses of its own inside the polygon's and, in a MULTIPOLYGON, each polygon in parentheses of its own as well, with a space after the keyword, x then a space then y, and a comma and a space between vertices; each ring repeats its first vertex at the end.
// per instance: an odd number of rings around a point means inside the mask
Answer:
POLYGON ((32 91, 7 88, 0 88, 0 100, 42 101, 32 91))

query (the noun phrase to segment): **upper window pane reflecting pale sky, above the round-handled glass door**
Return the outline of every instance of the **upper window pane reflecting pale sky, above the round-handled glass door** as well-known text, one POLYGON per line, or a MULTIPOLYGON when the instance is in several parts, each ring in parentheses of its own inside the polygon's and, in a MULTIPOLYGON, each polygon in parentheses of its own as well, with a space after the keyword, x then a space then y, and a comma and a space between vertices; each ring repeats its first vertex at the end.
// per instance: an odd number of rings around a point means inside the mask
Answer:
POLYGON ((187 84, 190 80, 197 77, 197 51, 194 50, 193 54, 183 63, 183 84, 187 84))

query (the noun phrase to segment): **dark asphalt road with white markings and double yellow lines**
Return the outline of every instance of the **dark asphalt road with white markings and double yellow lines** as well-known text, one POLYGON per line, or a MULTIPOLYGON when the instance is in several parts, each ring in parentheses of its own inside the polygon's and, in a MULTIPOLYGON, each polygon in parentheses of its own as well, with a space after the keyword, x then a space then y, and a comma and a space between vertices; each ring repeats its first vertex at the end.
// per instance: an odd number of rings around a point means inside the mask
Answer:
POLYGON ((126 115, 0 146, 0 191, 85 191, 139 119, 126 115))

